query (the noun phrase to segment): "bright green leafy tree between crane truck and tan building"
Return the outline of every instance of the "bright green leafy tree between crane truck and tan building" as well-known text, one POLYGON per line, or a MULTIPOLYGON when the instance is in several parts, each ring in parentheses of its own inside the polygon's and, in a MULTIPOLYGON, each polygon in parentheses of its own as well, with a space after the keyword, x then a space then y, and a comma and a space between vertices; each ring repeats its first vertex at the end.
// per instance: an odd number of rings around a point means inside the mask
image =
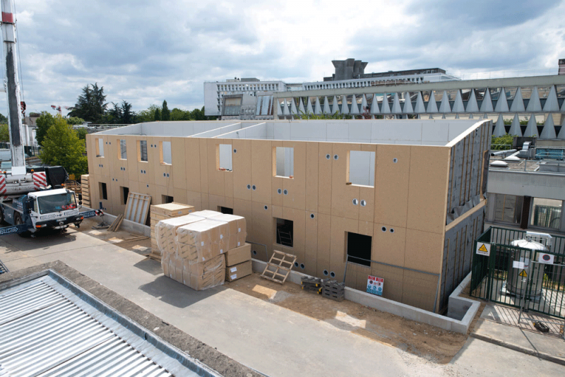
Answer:
POLYGON ((84 142, 62 116, 54 117, 54 123, 47 131, 42 146, 40 158, 44 164, 61 165, 75 176, 88 172, 84 142))

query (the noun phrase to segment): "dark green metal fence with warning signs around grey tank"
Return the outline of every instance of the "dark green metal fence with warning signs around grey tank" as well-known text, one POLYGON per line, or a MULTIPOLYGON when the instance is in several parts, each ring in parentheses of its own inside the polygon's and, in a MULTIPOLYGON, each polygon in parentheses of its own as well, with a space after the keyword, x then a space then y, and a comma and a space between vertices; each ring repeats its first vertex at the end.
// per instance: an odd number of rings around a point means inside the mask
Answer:
POLYGON ((565 318, 565 238, 532 237, 545 250, 524 249, 511 242, 526 232, 489 227, 475 250, 490 245, 489 256, 473 255, 470 296, 565 318))

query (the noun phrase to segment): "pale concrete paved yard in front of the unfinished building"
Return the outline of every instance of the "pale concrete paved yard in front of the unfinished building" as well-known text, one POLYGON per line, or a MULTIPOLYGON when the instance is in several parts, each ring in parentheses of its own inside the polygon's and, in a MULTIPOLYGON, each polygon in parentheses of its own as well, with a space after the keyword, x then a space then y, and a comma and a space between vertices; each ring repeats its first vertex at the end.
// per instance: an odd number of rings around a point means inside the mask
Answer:
POLYGON ((47 243, 35 239, 3 237, 0 260, 23 251, 20 258, 6 262, 12 271, 63 261, 79 275, 145 309, 148 316, 179 329, 179 335, 189 334, 268 376, 476 376, 493 371, 496 376, 556 376, 562 372, 557 364, 476 339, 468 340, 448 364, 437 364, 227 286, 195 292, 162 276, 158 263, 140 253, 100 244, 85 233, 69 231, 69 235, 73 242, 64 242, 61 249, 55 244, 45 249, 47 243))

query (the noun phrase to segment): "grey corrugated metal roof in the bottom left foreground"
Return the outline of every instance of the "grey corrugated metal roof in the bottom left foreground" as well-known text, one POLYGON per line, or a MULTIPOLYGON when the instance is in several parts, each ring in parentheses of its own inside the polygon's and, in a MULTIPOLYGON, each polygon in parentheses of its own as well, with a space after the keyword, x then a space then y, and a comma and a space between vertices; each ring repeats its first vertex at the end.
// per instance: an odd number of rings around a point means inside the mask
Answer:
POLYGON ((177 376, 213 375, 197 362, 186 368, 170 349, 148 344, 133 323, 117 323, 90 299, 49 276, 0 291, 0 377, 173 376, 163 365, 177 376))

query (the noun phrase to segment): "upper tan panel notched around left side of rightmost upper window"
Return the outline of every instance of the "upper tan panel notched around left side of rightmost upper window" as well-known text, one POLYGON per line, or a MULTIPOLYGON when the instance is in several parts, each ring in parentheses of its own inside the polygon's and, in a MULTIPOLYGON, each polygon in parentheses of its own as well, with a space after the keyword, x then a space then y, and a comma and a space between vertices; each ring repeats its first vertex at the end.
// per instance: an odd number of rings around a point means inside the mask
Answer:
POLYGON ((333 143, 332 156, 332 208, 331 215, 359 220, 360 188, 347 185, 347 169, 350 150, 361 150, 360 144, 333 143), (337 160, 335 157, 338 157, 337 160), (357 204, 354 204, 354 199, 357 204))

